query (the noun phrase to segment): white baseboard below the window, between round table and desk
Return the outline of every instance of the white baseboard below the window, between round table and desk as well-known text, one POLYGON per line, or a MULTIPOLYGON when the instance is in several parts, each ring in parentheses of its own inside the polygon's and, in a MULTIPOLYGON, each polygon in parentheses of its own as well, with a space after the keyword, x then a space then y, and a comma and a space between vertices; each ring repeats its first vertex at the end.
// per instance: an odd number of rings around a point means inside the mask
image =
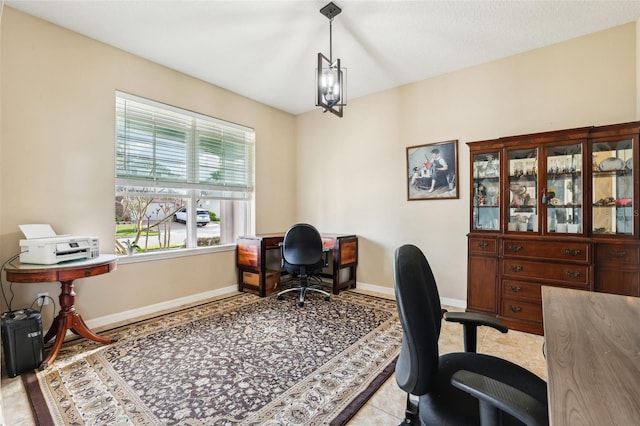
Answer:
POLYGON ((118 312, 117 314, 93 318, 85 322, 91 329, 104 329, 107 326, 115 327, 117 325, 129 323, 137 318, 151 317, 154 314, 159 314, 160 312, 176 310, 185 305, 193 305, 197 304, 198 302, 205 302, 208 299, 225 296, 227 294, 233 294, 237 291, 238 286, 231 285, 216 290, 206 291, 204 293, 192 294, 191 296, 181 297, 179 299, 167 300, 166 302, 156 303, 154 305, 144 306, 142 308, 118 312))

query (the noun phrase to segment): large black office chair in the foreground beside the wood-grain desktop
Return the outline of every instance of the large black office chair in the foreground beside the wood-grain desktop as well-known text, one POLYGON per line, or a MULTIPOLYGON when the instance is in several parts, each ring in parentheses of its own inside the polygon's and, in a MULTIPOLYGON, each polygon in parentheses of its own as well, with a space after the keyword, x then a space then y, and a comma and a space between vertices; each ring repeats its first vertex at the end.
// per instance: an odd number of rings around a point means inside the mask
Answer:
POLYGON ((465 350, 471 351, 440 356, 443 311, 427 259, 419 248, 403 245, 394 269, 403 330, 396 382, 408 393, 401 425, 547 425, 544 380, 507 360, 475 353, 479 325, 503 332, 506 327, 488 315, 445 311, 445 320, 464 325, 465 350))

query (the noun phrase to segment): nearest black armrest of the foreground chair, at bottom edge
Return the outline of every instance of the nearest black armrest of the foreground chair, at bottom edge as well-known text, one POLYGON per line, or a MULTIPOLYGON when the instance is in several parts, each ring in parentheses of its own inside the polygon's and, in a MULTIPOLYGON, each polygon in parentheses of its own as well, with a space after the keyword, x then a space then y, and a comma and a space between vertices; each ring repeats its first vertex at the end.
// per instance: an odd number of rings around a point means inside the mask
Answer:
POLYGON ((451 376, 451 384, 480 402, 480 424, 497 425, 500 412, 512 415, 528 426, 549 424, 547 406, 519 389, 467 370, 451 376))

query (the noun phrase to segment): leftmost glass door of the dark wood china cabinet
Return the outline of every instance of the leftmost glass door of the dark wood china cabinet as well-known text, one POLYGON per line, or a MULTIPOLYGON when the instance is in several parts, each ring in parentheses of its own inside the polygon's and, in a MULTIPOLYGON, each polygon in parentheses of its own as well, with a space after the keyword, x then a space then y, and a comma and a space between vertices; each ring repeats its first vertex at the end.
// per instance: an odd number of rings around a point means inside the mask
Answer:
POLYGON ((500 229, 500 153, 474 154, 473 230, 500 229))

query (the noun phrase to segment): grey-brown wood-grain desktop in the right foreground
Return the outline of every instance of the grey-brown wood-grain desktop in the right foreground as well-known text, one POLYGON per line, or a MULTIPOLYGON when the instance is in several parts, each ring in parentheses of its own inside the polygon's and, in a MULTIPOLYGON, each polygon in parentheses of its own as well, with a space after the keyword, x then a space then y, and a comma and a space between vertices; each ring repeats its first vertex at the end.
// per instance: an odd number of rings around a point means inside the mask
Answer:
POLYGON ((640 419, 640 299, 542 287, 549 419, 555 426, 640 419))

